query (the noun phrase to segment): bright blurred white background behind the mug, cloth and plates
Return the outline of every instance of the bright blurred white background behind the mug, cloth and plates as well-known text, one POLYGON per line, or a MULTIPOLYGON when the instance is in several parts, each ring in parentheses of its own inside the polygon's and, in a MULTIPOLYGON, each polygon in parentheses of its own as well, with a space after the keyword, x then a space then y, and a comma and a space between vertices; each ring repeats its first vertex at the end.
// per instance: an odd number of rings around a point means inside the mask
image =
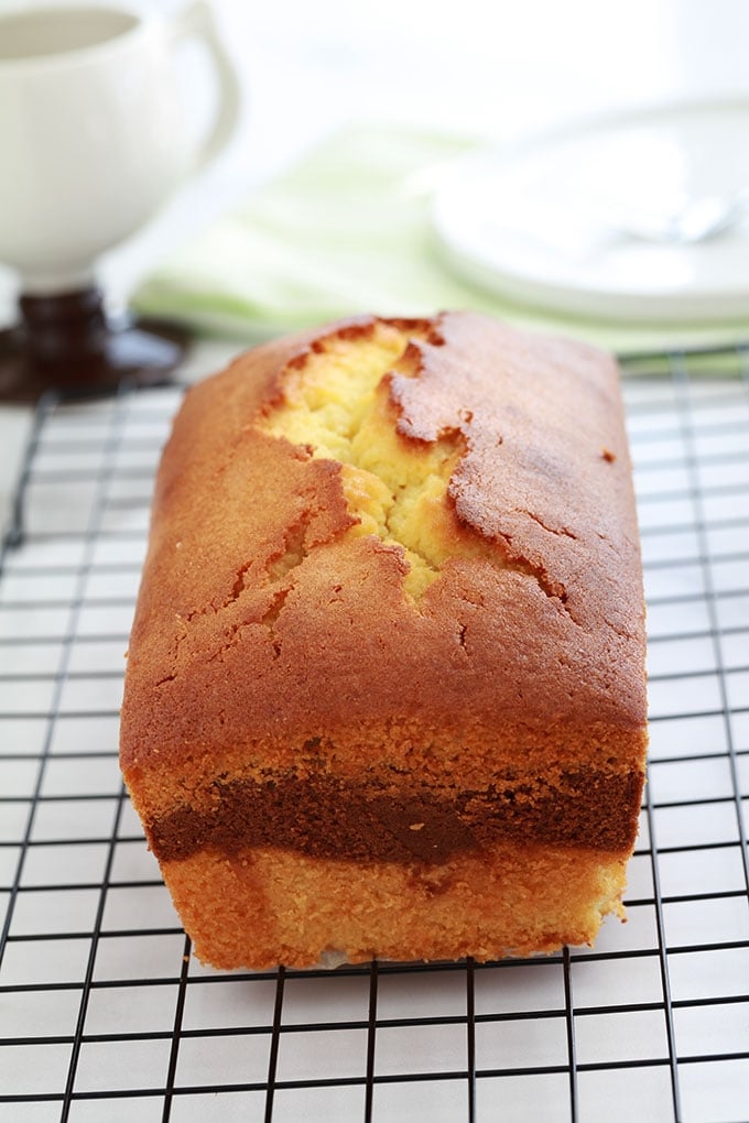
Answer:
MULTIPOLYGON (((119 2, 153 15, 181 7, 180 0, 119 2)), ((31 6, 0 0, 0 12, 31 6)), ((749 95, 746 0, 212 0, 212 7, 241 74, 241 124, 205 174, 102 262, 115 305, 171 248, 345 124, 429 124, 509 145, 611 111, 749 95)), ((197 131, 209 116, 207 75, 198 52, 188 51, 184 88, 197 131)), ((15 316, 16 289, 0 263, 0 325, 15 316)), ((18 411, 0 411, 0 508, 24 438, 18 422, 18 411)))

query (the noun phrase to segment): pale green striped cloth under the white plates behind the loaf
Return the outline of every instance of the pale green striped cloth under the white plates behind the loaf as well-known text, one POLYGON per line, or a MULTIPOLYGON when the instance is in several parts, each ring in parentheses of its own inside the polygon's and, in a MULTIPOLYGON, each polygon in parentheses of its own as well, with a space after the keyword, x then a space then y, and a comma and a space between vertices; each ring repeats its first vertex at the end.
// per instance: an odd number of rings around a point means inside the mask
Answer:
POLYGON ((514 304, 453 273, 429 216, 430 170, 474 139, 357 127, 329 137, 274 182, 163 262, 134 298, 139 311, 198 331, 255 340, 357 312, 493 313, 618 351, 749 339, 741 322, 606 323, 514 304))

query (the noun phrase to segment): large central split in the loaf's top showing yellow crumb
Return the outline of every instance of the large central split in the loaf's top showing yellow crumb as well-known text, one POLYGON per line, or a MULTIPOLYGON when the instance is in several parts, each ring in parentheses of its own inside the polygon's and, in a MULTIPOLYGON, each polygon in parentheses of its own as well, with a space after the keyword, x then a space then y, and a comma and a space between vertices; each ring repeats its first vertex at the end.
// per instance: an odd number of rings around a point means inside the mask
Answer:
MULTIPOLYGON (((281 400, 259 428, 305 447, 314 458, 342 464, 342 489, 355 520, 348 533, 374 533, 403 551, 404 588, 414 605, 449 557, 483 557, 533 577, 572 618, 564 586, 515 551, 511 536, 491 541, 458 520, 450 481, 467 445, 457 422, 432 440, 399 431, 390 381, 395 373, 418 378, 420 343, 439 346, 442 339, 427 322, 414 328, 380 321, 366 335, 334 334, 316 341, 285 367, 281 400)), ((566 528, 545 526, 532 511, 522 513, 549 533, 576 538, 566 528)))

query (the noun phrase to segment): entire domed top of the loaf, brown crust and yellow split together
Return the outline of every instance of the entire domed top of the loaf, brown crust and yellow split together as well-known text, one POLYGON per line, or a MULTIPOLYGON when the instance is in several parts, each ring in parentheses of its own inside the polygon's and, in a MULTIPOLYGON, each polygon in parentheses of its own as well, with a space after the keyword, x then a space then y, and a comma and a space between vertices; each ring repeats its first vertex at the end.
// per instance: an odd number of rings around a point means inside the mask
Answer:
POLYGON ((603 742, 614 766, 645 724, 642 666, 608 356, 472 313, 362 318, 189 392, 157 481, 126 768, 210 746, 303 775, 327 746, 356 773, 376 743, 429 770, 459 743, 481 772, 603 742))

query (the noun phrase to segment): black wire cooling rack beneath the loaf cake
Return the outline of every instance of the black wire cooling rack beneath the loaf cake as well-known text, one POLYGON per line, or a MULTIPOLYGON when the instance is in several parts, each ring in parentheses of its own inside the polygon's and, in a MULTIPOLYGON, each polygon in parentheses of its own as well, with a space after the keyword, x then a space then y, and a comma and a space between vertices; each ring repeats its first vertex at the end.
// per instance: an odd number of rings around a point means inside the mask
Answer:
POLYGON ((0 573, 0 1119, 749 1119, 749 355, 630 359, 651 758, 594 950, 219 974, 117 764, 179 387, 45 400, 0 573))

